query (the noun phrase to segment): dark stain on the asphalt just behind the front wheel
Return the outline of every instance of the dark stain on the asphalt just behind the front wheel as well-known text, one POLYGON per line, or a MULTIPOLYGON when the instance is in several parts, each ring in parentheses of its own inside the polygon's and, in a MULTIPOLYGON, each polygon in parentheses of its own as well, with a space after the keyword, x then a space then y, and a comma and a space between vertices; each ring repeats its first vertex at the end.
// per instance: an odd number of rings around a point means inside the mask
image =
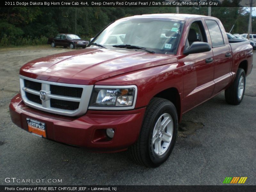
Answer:
POLYGON ((196 130, 202 129, 204 127, 203 123, 185 121, 179 124, 178 136, 187 137, 188 135, 193 134, 196 130))

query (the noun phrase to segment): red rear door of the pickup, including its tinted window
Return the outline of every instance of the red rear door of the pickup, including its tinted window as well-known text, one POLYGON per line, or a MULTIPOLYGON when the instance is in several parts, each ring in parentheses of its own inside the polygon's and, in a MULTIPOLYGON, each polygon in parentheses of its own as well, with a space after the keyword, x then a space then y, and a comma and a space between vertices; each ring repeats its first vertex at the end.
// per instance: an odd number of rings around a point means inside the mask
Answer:
MULTIPOLYGON (((219 24, 215 20, 205 20, 212 42, 214 60, 214 82, 213 95, 223 90, 231 78, 232 54, 230 45, 225 44, 219 24)), ((226 35, 226 34, 225 34, 226 35)))

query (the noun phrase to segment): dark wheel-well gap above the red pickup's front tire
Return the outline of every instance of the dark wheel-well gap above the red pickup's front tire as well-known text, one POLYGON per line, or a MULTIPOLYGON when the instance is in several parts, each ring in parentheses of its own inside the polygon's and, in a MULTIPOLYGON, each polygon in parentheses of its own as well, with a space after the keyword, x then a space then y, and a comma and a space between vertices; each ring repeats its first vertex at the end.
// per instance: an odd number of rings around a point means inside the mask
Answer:
POLYGON ((180 94, 179 94, 179 91, 177 88, 171 87, 171 88, 165 89, 165 90, 157 93, 156 95, 154 95, 154 97, 163 98, 163 99, 171 101, 177 110, 178 121, 180 122, 180 120, 181 120, 181 102, 180 102, 180 94))

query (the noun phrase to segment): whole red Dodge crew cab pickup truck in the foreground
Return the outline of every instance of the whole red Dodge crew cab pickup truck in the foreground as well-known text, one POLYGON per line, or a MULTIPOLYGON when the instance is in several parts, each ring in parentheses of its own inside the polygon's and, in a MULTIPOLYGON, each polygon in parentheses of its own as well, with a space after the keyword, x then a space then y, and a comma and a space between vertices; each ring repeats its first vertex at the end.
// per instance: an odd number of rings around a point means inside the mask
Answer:
POLYGON ((12 122, 93 151, 129 149, 148 167, 171 154, 188 110, 225 90, 239 104, 252 70, 249 42, 228 42, 219 19, 137 15, 100 31, 84 50, 28 62, 12 122))

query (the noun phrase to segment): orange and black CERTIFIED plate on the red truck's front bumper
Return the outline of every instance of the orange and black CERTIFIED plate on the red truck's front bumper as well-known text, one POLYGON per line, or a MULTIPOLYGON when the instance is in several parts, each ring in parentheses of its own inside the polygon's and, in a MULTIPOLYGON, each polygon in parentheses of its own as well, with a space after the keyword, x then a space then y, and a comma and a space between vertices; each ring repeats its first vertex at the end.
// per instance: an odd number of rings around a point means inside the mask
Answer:
POLYGON ((27 118, 28 132, 38 137, 46 138, 46 125, 35 119, 27 118))

